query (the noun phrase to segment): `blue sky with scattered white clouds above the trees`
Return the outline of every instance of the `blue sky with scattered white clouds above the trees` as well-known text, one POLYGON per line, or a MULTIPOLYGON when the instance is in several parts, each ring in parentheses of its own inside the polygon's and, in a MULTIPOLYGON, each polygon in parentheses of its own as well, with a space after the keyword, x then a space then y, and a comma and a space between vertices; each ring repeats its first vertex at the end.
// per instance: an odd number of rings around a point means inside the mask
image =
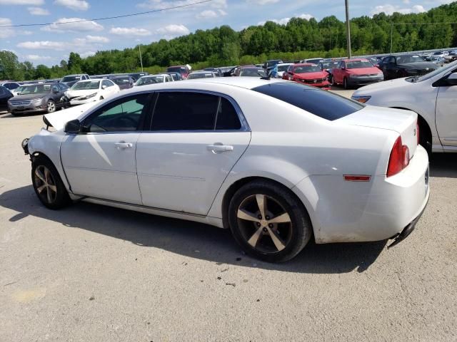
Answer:
MULTIPOLYGON (((59 23, 119 16, 193 4, 201 0, 0 0, 0 26, 59 23)), ((349 0, 351 17, 421 13, 452 0, 349 0)), ((0 50, 16 53, 19 61, 51 66, 67 60, 71 51, 82 57, 99 50, 124 49, 174 38, 197 29, 229 25, 240 31, 291 17, 345 19, 344 0, 211 0, 183 9, 160 11, 106 21, 0 28, 0 50)))

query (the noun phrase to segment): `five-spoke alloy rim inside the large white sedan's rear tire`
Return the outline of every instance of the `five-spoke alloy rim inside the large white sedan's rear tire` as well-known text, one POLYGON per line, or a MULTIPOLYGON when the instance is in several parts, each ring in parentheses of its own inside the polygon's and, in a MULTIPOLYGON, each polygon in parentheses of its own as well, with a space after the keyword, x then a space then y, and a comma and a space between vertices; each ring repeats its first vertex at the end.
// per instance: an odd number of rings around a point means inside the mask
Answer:
POLYGON ((258 252, 278 253, 291 242, 291 217, 273 197, 262 194, 246 197, 236 217, 243 239, 258 252))

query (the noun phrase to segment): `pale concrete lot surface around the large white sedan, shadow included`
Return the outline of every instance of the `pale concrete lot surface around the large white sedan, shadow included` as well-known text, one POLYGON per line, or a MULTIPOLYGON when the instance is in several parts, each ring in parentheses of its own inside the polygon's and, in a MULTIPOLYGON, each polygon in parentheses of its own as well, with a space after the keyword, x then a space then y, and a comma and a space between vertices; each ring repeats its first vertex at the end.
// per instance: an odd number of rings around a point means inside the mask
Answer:
POLYGON ((266 264, 204 224, 45 209, 20 147, 40 127, 0 115, 0 341, 457 341, 456 155, 431 162, 398 246, 311 243, 266 264))

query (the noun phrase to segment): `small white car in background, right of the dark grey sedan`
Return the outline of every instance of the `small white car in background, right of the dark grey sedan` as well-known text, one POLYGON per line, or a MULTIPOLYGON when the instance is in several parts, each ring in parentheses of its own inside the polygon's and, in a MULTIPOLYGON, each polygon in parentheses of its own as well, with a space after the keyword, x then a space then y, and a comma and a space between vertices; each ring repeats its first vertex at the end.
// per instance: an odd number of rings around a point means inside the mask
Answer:
POLYGON ((104 100, 119 91, 121 88, 113 81, 99 78, 76 82, 65 95, 71 105, 82 105, 104 100))

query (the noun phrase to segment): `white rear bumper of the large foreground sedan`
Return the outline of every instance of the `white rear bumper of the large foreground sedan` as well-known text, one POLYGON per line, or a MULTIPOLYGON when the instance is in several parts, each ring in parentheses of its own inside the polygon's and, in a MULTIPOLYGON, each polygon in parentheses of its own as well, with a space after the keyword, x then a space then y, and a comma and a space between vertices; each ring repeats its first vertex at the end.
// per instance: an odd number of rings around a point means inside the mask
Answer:
POLYGON ((427 205, 428 155, 418 146, 410 165, 392 177, 345 182, 341 175, 317 175, 292 190, 308 209, 317 243, 392 239, 410 231, 427 205))

